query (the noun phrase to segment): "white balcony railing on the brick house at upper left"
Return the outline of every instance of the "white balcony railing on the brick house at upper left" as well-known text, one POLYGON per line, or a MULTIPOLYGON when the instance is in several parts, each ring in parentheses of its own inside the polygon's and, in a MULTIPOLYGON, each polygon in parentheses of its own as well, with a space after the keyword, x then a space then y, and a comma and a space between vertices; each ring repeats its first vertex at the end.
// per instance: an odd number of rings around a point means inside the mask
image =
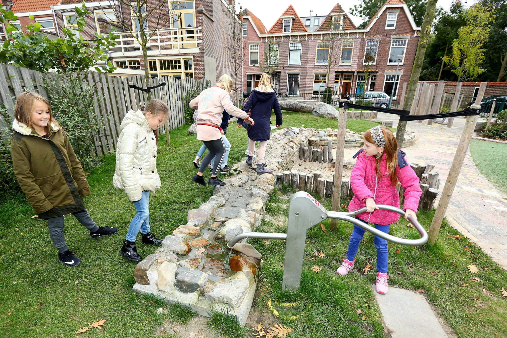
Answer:
MULTIPOLYGON (((140 39, 140 32, 119 32, 120 36, 116 39, 117 46, 112 48, 112 52, 134 52, 140 50, 136 38, 140 39)), ((201 27, 185 27, 185 28, 166 28, 147 31, 147 35, 153 36, 147 44, 149 50, 167 50, 167 49, 183 49, 196 48, 202 43, 201 27), (154 33, 154 34, 153 34, 154 33)))

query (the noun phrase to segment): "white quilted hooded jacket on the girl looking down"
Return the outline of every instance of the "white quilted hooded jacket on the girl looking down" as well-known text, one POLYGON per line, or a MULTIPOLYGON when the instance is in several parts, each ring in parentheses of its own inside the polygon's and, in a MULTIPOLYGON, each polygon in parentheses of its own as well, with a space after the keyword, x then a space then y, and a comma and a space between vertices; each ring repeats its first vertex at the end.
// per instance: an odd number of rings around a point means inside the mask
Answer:
POLYGON ((161 187, 157 173, 157 140, 142 111, 129 110, 120 126, 116 146, 116 172, 113 185, 123 189, 135 202, 142 192, 161 187))

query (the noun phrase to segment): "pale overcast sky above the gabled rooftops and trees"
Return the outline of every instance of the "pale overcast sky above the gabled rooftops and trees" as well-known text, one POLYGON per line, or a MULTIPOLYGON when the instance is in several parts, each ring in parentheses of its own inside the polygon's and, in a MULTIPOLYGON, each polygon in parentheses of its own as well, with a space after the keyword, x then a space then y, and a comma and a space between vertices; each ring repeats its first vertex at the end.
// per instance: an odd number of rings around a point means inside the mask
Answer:
MULTIPOLYGON (((437 7, 443 7, 448 10, 451 6, 453 0, 438 0, 437 7)), ((342 5, 343 9, 347 14, 350 13, 350 8, 354 5, 358 5, 360 3, 359 0, 347 0, 339 1, 339 0, 236 0, 236 6, 242 6, 243 9, 247 8, 253 14, 255 14, 259 19, 262 20, 267 29, 271 28, 271 26, 276 22, 276 20, 282 15, 283 11, 289 6, 292 5, 299 16, 309 16, 310 10, 313 10, 312 15, 328 15, 329 12, 335 7, 335 5, 339 3, 342 5)), ((464 4, 468 7, 470 4, 474 3, 474 0, 468 0, 467 4, 464 4)), ((363 20, 359 17, 355 17, 350 15, 350 18, 354 22, 355 25, 359 25, 363 20)))

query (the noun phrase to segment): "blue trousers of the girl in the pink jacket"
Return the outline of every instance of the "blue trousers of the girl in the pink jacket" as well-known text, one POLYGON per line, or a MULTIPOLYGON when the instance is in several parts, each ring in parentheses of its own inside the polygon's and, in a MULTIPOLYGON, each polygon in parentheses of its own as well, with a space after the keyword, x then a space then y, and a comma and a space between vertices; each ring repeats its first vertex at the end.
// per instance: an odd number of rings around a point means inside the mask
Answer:
MULTIPOLYGON (((357 217, 355 218, 365 224, 368 224, 362 219, 359 219, 357 217)), ((375 229, 378 229, 381 232, 388 234, 390 225, 391 224, 387 224, 387 226, 382 226, 381 224, 375 224, 375 229)), ((354 230, 350 235, 349 248, 347 251, 348 260, 352 261, 352 259, 354 259, 355 254, 357 253, 357 249, 359 248, 359 243, 361 243, 361 239, 363 239, 363 236, 365 235, 365 231, 366 231, 365 229, 358 227, 354 224, 354 230)), ((377 271, 381 273, 386 273, 387 258, 389 255, 387 251, 387 241, 383 238, 375 236, 373 243, 375 244, 375 248, 377 249, 377 271)))

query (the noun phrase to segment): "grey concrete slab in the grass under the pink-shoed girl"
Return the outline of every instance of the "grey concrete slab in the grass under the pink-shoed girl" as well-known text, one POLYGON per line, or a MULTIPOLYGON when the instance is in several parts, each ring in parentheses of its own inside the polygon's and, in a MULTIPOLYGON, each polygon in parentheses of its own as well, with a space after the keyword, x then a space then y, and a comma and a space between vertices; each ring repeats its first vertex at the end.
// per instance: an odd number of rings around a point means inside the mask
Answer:
POLYGON ((379 294, 372 286, 392 338, 448 338, 424 296, 395 287, 379 294))

